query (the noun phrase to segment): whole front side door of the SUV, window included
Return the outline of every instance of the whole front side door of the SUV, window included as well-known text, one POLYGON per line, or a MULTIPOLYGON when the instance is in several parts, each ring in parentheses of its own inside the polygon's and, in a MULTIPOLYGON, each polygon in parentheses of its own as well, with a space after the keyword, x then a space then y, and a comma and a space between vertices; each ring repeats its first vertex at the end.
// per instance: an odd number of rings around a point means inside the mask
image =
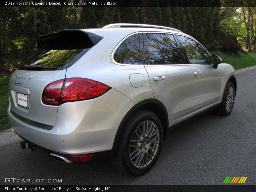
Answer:
POLYGON ((194 74, 195 112, 220 102, 221 71, 213 68, 211 55, 188 36, 178 36, 194 74))

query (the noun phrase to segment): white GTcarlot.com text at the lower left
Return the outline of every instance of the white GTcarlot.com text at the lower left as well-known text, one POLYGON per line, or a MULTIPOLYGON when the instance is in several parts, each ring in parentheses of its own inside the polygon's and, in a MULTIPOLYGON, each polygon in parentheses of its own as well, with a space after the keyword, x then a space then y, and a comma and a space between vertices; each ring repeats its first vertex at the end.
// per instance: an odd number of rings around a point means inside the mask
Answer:
POLYGON ((16 177, 6 177, 6 183, 62 183, 62 179, 19 179, 16 177))

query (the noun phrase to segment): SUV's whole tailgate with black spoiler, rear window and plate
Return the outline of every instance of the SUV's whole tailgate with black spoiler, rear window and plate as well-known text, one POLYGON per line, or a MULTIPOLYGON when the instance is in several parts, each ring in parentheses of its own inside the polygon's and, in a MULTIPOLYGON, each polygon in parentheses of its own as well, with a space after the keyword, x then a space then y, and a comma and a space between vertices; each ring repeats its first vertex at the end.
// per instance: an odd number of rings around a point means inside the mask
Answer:
POLYGON ((88 34, 64 30, 38 38, 39 49, 10 77, 10 107, 14 116, 37 127, 52 128, 58 106, 43 103, 44 88, 53 81, 65 79, 67 68, 97 43, 88 34))

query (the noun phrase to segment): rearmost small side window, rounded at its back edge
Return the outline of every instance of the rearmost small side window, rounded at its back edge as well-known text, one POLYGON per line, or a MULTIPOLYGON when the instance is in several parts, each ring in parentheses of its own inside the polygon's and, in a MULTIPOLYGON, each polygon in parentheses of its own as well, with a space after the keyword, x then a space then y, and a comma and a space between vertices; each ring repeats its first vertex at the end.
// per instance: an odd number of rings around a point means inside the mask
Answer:
POLYGON ((143 65, 142 46, 142 34, 130 36, 119 45, 114 60, 122 64, 143 65))

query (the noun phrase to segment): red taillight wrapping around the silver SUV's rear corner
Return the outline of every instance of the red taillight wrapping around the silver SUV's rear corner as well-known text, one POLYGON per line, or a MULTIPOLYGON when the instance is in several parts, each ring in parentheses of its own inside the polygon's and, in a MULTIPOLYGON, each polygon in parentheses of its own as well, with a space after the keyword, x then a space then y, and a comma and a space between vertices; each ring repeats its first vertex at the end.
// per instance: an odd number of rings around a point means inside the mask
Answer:
POLYGON ((111 87, 91 79, 61 79, 45 87, 42 100, 47 105, 60 105, 69 101, 93 99, 109 89, 111 87))

